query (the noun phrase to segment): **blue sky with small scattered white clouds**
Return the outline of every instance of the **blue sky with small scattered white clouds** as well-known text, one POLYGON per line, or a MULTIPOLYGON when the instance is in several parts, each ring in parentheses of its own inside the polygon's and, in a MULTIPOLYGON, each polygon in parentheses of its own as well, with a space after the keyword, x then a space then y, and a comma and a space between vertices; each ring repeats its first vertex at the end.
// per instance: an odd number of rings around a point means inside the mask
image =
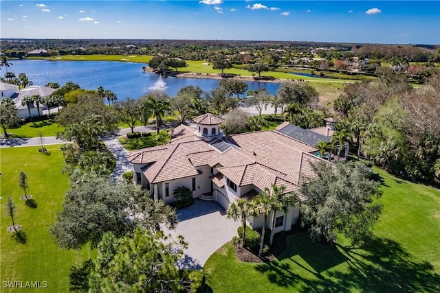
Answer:
POLYGON ((1 38, 440 44, 440 1, 0 1, 1 38))

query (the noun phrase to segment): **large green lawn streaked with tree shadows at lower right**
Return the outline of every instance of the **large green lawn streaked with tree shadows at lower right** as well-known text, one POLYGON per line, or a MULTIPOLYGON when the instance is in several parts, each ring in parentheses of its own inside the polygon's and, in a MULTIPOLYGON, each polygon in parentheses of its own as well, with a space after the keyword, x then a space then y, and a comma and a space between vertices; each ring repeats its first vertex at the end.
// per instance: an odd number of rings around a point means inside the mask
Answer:
POLYGON ((440 292, 440 191, 375 169, 383 180, 384 212, 362 247, 335 247, 289 236, 272 263, 243 263, 230 244, 203 270, 213 292, 440 292))

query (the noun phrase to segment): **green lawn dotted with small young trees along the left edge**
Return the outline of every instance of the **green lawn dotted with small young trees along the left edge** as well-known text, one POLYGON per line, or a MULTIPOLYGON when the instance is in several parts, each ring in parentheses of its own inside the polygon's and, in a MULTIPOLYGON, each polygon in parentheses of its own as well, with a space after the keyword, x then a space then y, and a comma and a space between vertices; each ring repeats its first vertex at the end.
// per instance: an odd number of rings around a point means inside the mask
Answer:
MULTIPOLYGON (((61 173, 60 145, 46 146, 48 155, 37 152, 38 148, 1 149, 1 281, 47 281, 47 292, 67 292, 70 268, 88 259, 91 251, 89 248, 61 250, 52 240, 50 227, 56 213, 62 209, 69 178, 61 173), (32 194, 36 208, 25 206, 19 199, 23 194, 17 186, 20 171, 28 175, 28 194, 32 194), (4 213, 8 196, 16 204, 15 222, 23 226, 27 237, 25 244, 18 243, 12 238, 13 233, 6 231, 11 225, 4 213)), ((2 286, 1 292, 19 291, 6 290, 2 286)))

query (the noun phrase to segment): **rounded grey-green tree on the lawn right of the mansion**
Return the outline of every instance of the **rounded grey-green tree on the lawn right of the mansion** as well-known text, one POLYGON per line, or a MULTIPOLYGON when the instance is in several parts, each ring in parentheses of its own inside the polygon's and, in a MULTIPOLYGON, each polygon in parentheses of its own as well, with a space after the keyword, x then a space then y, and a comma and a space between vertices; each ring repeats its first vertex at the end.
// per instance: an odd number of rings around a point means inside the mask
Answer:
POLYGON ((371 237, 379 220, 382 204, 380 182, 371 179, 371 170, 356 162, 329 165, 312 164, 316 179, 309 178, 301 193, 308 198, 301 207, 304 225, 316 242, 333 242, 336 232, 343 233, 353 244, 371 237))

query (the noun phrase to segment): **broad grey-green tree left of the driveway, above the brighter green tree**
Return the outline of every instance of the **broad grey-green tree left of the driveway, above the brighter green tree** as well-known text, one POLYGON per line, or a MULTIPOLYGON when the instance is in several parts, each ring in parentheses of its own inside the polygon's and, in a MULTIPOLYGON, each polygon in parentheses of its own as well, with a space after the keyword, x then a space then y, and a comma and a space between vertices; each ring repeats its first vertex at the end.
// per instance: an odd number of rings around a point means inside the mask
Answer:
POLYGON ((87 176, 67 191, 51 233, 61 248, 77 249, 87 242, 96 246, 106 232, 121 237, 139 226, 156 233, 161 224, 175 228, 177 216, 148 191, 87 176))

